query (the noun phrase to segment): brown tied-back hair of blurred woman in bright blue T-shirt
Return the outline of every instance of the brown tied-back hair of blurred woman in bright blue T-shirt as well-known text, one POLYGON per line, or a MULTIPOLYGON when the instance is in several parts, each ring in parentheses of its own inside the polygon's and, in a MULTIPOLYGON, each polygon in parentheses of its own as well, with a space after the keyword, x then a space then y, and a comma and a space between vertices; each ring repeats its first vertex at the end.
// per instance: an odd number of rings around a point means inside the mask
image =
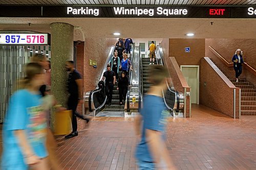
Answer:
POLYGON ((33 78, 38 74, 42 74, 42 72, 43 72, 43 68, 40 64, 36 62, 26 64, 25 66, 26 77, 19 81, 19 89, 28 88, 33 78))

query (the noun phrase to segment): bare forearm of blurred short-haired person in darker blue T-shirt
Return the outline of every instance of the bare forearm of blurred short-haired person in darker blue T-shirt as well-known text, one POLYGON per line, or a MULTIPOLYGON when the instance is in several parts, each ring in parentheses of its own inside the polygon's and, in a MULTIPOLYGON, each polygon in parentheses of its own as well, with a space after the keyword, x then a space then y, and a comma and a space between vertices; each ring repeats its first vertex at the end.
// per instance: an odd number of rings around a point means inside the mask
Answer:
POLYGON ((167 165, 167 169, 176 169, 169 156, 165 142, 162 140, 162 132, 146 129, 145 133, 147 144, 157 166, 161 163, 162 158, 167 165))

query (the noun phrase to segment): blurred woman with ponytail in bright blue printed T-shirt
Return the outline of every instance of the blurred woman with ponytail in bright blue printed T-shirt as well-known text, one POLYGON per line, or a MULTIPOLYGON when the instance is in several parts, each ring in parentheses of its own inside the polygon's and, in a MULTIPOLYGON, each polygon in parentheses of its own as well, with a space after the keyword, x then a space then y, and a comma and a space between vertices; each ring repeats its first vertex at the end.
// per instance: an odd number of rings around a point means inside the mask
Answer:
POLYGON ((46 113, 39 92, 44 72, 38 63, 27 64, 25 72, 21 89, 10 98, 3 126, 2 170, 49 169, 46 113))

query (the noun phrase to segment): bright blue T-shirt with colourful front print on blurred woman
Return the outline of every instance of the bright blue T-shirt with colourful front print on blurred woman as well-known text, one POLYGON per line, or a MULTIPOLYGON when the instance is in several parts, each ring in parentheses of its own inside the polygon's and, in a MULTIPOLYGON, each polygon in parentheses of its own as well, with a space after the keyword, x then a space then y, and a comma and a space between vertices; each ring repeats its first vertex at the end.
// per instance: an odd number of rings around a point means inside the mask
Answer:
POLYGON ((25 130, 35 155, 45 158, 46 115, 41 108, 41 95, 23 89, 16 91, 9 101, 3 126, 3 155, 1 169, 28 169, 24 155, 14 135, 15 130, 25 130))

